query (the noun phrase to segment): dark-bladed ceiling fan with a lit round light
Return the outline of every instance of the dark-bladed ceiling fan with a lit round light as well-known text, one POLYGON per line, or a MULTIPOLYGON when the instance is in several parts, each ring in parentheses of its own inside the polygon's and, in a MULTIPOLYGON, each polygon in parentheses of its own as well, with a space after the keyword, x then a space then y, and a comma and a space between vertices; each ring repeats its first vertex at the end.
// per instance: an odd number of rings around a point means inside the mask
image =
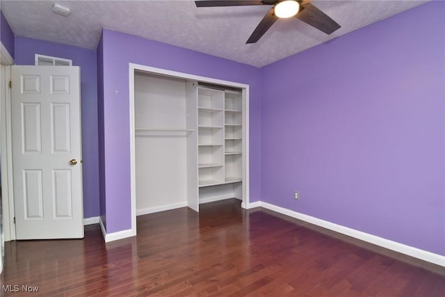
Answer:
POLYGON ((340 28, 340 25, 328 17, 323 11, 313 6, 309 0, 286 0, 286 1, 248 1, 248 0, 232 0, 232 1, 195 1, 197 7, 216 7, 216 6, 257 6, 257 5, 273 5, 268 13, 261 19, 257 28, 253 31, 250 38, 245 43, 255 43, 261 36, 268 31, 270 26, 275 23, 278 18, 286 18, 295 16, 306 24, 330 34, 340 28))

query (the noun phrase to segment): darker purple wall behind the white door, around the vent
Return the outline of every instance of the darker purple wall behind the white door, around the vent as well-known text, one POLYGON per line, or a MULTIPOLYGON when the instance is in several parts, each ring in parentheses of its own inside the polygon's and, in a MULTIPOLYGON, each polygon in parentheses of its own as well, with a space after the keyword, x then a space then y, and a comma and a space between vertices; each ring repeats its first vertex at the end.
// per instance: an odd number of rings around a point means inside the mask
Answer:
POLYGON ((83 217, 99 216, 96 52, 31 38, 15 38, 17 65, 34 65, 34 54, 71 59, 73 65, 81 67, 83 217))

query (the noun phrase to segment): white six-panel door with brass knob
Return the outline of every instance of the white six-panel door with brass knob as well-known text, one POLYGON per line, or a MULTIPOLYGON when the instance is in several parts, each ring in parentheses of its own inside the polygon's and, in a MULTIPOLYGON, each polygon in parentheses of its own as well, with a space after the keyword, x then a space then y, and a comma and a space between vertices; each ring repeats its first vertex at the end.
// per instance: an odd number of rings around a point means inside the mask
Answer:
POLYGON ((80 69, 12 66, 17 239, 83 237, 80 69))

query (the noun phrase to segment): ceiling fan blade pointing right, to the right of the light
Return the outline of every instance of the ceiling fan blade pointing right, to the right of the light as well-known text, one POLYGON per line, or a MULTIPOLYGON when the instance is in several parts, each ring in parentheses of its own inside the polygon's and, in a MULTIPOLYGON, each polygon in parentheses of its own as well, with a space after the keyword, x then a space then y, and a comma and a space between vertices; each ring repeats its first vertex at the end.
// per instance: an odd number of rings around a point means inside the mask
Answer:
POLYGON ((323 31, 326 34, 330 34, 341 26, 328 17, 323 11, 319 10, 311 3, 303 3, 302 10, 296 14, 296 18, 301 19, 308 25, 313 26, 314 28, 323 31))

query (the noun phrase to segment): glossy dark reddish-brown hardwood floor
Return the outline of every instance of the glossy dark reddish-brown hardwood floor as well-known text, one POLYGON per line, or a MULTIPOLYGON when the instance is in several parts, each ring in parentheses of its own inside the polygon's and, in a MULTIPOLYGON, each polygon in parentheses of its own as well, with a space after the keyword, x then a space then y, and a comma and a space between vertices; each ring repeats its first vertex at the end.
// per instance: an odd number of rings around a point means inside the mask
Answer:
POLYGON ((443 267, 238 200, 200 209, 139 216, 138 236, 111 243, 98 225, 83 240, 8 242, 2 285, 40 296, 445 296, 443 267))

